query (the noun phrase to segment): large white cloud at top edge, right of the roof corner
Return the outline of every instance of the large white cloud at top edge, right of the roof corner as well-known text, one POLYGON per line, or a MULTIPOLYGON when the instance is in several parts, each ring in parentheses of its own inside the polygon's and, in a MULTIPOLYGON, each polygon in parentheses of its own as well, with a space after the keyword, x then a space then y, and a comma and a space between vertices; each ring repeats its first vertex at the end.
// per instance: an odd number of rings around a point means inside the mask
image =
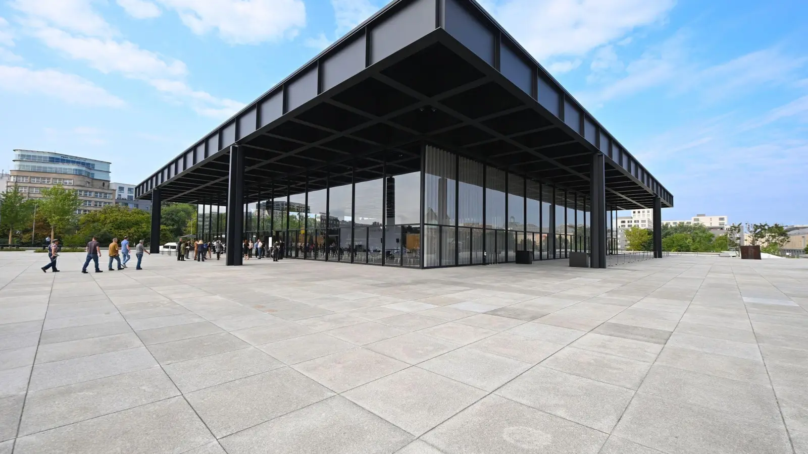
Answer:
POLYGON ((499 0, 488 10, 539 61, 579 57, 663 20, 674 0, 499 0))

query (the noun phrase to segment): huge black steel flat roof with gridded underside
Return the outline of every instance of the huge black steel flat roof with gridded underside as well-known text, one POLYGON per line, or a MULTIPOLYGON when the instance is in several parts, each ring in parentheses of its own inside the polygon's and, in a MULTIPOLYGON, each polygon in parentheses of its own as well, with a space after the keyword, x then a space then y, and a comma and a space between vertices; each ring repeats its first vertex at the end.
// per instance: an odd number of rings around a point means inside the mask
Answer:
POLYGON ((592 153, 603 153, 610 209, 653 208, 656 195, 673 206, 473 0, 391 2, 138 185, 137 198, 160 187, 163 201, 226 204, 234 143, 248 200, 326 187, 326 174, 331 186, 381 178, 385 159, 387 174, 420 170, 427 143, 582 195, 592 153))

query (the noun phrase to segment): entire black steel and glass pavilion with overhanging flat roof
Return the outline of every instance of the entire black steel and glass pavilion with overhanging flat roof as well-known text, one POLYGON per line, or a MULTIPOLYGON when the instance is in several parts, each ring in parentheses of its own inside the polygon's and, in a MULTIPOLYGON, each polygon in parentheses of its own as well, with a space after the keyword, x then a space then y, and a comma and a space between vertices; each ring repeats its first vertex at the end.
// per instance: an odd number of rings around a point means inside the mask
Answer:
POLYGON ((298 259, 429 268, 577 251, 606 267, 617 210, 660 220, 673 206, 472 0, 390 3, 155 166, 135 191, 152 200, 152 236, 162 201, 225 206, 229 265, 258 235, 298 259), (287 211, 248 230, 266 200, 287 211))

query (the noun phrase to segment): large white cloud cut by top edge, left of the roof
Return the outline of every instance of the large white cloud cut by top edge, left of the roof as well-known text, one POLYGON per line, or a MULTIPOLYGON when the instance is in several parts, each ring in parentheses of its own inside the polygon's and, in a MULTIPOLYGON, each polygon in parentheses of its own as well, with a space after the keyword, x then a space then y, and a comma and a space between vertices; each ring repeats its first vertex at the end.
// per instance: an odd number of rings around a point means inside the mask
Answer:
POLYGON ((159 0, 197 35, 217 30, 230 44, 291 38, 305 27, 303 0, 159 0))

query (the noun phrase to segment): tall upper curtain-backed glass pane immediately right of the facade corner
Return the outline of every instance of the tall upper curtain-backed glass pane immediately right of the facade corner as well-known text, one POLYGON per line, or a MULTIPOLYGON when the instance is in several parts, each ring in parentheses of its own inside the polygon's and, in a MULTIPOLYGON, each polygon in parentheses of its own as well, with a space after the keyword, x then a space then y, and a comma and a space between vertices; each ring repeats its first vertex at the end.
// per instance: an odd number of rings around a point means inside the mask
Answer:
POLYGON ((423 191, 423 221, 455 224, 456 158, 452 153, 427 145, 423 191))

